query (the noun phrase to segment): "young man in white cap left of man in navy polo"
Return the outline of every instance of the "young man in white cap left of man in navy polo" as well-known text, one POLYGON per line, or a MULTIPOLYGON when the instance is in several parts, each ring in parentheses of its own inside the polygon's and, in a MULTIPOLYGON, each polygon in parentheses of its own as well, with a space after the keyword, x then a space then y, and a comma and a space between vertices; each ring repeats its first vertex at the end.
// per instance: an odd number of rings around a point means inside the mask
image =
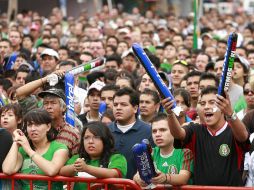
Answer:
POLYGON ((87 92, 87 99, 90 106, 90 110, 87 113, 79 115, 79 119, 83 125, 91 121, 99 121, 99 106, 101 101, 101 89, 105 84, 101 81, 95 81, 87 92))

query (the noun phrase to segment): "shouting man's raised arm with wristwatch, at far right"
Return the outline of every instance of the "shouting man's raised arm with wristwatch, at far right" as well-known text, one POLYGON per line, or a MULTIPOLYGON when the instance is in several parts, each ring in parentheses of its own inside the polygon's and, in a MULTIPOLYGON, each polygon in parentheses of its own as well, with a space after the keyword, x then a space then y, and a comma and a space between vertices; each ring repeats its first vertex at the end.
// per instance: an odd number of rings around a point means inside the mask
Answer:
POLYGON ((226 98, 217 94, 216 104, 217 107, 224 113, 227 119, 228 124, 231 126, 234 137, 239 142, 245 142, 249 133, 244 125, 244 123, 235 116, 234 111, 231 107, 229 95, 225 92, 226 98))

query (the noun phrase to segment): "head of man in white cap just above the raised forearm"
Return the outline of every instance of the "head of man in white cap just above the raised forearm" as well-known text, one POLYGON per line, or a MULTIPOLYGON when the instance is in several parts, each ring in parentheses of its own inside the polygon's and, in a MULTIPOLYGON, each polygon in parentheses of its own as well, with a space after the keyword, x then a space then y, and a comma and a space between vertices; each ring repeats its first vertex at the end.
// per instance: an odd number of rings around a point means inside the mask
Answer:
POLYGON ((59 60, 59 55, 55 50, 46 48, 41 53, 41 58, 41 69, 44 73, 49 74, 55 71, 59 60))

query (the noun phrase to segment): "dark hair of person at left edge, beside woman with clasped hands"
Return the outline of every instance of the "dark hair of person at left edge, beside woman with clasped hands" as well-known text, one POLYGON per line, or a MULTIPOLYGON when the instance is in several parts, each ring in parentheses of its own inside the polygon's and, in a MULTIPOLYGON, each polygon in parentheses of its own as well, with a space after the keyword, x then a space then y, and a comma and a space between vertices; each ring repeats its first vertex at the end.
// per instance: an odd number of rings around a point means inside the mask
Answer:
MULTIPOLYGON (((15 118, 16 120, 22 120, 22 109, 21 109, 21 106, 18 104, 18 103, 15 103, 15 104, 7 104, 5 106, 3 106, 1 109, 0 109, 0 119, 1 119, 1 115, 2 113, 4 112, 7 112, 7 111, 13 111, 14 115, 15 115, 15 118)), ((18 129, 21 129, 22 128, 22 122, 20 124, 17 125, 17 128, 18 129)))

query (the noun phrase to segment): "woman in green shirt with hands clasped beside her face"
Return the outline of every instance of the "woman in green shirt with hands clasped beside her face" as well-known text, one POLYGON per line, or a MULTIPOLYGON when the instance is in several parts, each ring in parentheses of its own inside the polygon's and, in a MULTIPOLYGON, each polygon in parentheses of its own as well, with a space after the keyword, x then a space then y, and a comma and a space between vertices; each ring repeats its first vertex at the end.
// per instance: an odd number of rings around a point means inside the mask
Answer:
MULTIPOLYGON (((24 131, 13 132, 14 142, 2 168, 7 175, 14 173, 55 176, 68 159, 66 145, 54 141, 51 118, 47 111, 34 109, 24 117, 24 131)), ((29 181, 21 181, 22 189, 30 189, 29 181)), ((33 182, 34 189, 47 189, 48 183, 33 182)), ((60 182, 53 183, 52 189, 63 189, 60 182)))

